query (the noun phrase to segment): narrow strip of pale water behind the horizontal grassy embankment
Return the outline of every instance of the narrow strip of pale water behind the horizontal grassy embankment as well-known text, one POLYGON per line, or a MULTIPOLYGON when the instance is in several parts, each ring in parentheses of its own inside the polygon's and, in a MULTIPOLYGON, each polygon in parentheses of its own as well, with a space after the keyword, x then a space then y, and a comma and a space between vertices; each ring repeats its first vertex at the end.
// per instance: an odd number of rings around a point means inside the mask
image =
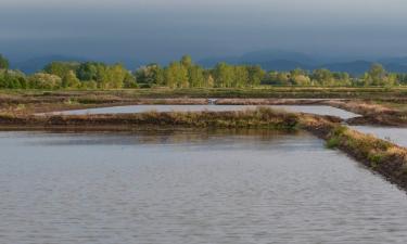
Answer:
MULTIPOLYGON (((257 106, 252 105, 130 105, 130 106, 113 106, 100 107, 78 111, 59 112, 56 114, 65 115, 84 115, 84 114, 124 114, 124 113, 142 113, 149 111, 156 112, 171 112, 171 111, 243 111, 254 110, 257 106)), ((340 110, 332 106, 325 105, 268 105, 267 107, 275 107, 287 110, 290 112, 303 112, 318 115, 332 115, 343 119, 357 117, 357 114, 340 110)))

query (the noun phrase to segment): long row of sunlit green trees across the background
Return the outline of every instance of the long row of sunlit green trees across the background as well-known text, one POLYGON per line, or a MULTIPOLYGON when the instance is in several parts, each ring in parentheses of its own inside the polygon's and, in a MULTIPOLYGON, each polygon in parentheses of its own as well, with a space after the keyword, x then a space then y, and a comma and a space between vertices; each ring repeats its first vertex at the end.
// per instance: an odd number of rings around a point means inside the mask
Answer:
POLYGON ((328 69, 266 72, 258 65, 219 63, 213 68, 195 64, 188 55, 167 66, 149 64, 131 72, 123 64, 51 62, 42 70, 25 75, 9 68, 0 54, 2 89, 131 89, 131 88, 252 88, 269 86, 369 87, 407 85, 406 74, 386 72, 373 64, 360 77, 328 69))

